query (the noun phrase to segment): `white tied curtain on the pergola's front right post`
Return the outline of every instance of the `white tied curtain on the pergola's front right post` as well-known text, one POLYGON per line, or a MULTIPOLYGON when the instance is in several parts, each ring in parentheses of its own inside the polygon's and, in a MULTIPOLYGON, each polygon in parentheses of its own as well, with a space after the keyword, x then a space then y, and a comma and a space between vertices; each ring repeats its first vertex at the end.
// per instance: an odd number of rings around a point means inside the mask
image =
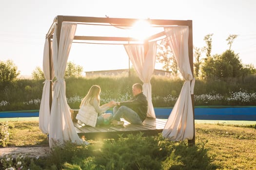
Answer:
POLYGON ((188 55, 188 26, 174 26, 164 29, 167 40, 174 53, 178 69, 185 79, 177 102, 165 124, 162 135, 170 140, 192 139, 194 136, 194 118, 191 99, 191 81, 193 75, 188 55))

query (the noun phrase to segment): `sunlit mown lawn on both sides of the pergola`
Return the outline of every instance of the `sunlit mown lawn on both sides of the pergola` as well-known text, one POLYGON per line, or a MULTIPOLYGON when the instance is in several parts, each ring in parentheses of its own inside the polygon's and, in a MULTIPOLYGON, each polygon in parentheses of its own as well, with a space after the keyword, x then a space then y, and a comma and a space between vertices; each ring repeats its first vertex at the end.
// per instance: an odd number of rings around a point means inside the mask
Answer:
MULTIPOLYGON (((207 150, 212 169, 256 169, 256 122, 196 120, 196 144, 207 150)), ((8 121, 9 146, 48 145, 38 120, 8 121)), ((97 141, 90 141, 92 145, 97 141)), ((195 155, 197 157, 197 155, 195 155)))

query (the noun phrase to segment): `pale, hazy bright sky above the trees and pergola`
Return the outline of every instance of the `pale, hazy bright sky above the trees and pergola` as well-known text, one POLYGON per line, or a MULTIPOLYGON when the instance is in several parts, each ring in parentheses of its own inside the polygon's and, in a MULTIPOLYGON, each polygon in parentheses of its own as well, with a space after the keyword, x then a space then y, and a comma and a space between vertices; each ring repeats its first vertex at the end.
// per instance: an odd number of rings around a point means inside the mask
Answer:
MULTIPOLYGON (((255 9, 256 0, 1 0, 0 61, 11 59, 20 75, 31 75, 42 68, 45 35, 56 16, 108 16, 193 20, 193 45, 205 46, 204 36, 213 34, 211 54, 226 51, 227 37, 237 34, 232 50, 256 67, 255 9)), ((121 45, 73 43, 68 61, 84 71, 129 66, 121 45)))

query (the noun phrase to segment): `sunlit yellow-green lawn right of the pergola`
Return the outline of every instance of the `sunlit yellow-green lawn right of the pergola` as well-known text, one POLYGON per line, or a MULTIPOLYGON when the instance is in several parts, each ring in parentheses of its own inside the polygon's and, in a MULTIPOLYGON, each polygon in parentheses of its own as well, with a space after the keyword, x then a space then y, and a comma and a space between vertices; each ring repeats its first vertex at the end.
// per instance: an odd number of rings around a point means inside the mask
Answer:
POLYGON ((196 124, 196 140, 205 140, 213 163, 225 170, 256 169, 256 126, 196 124))

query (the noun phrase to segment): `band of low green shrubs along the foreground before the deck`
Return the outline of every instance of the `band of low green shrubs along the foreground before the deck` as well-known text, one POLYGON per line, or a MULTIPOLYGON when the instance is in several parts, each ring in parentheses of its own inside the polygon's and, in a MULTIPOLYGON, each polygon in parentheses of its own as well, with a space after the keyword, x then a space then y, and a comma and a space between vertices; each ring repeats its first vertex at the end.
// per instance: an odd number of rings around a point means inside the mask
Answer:
POLYGON ((31 170, 212 170, 215 164, 204 144, 188 147, 158 136, 119 136, 91 141, 90 145, 65 142, 46 157, 5 156, 0 169, 31 170))

